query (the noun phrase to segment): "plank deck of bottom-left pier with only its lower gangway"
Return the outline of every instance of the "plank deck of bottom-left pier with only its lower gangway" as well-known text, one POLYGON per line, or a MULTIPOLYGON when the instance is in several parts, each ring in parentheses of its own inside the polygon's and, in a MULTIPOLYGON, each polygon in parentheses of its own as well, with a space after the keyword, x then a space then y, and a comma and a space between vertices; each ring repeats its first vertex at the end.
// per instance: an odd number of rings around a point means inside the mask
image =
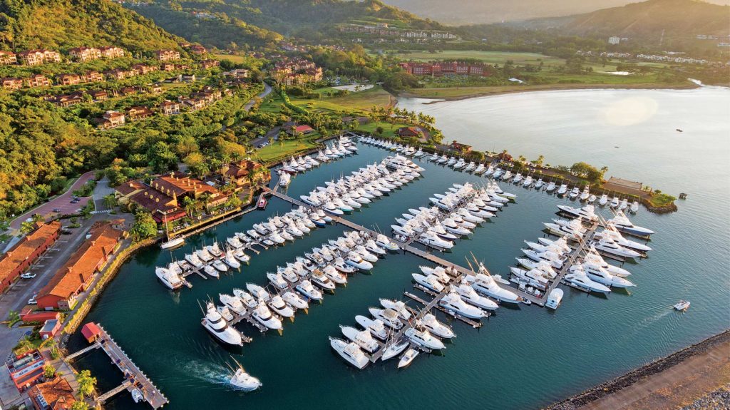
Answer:
MULTIPOLYGON (((101 349, 104 350, 104 353, 112 359, 112 363, 114 363, 119 370, 122 371, 126 379, 125 382, 120 385, 119 388, 121 390, 119 391, 128 390, 131 392, 135 389, 139 390, 139 392, 142 393, 142 397, 145 398, 145 401, 147 401, 153 409, 159 409, 168 403, 167 398, 162 394, 162 392, 155 387, 146 374, 139 370, 137 365, 134 364, 122 348, 119 347, 117 342, 112 339, 112 336, 109 336, 107 330, 104 330, 101 325, 98 326, 100 333, 97 343, 101 345, 101 349), (122 386, 125 387, 121 388, 122 386)), ((100 397, 104 398, 104 396, 109 395, 111 392, 116 394, 115 390, 111 390, 100 397)))

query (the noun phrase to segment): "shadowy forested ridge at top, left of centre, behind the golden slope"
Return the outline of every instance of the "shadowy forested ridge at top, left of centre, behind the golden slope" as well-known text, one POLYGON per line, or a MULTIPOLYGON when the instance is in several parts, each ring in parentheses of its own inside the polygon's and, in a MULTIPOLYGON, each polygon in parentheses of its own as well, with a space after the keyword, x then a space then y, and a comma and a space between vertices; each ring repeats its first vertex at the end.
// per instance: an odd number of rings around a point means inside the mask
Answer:
POLYGON ((332 39, 332 29, 339 23, 442 28, 378 0, 158 0, 134 9, 167 31, 218 47, 231 41, 241 45, 247 39, 258 47, 274 39, 270 31, 312 41, 332 39), (231 40, 234 36, 228 30, 247 33, 242 39, 231 40))

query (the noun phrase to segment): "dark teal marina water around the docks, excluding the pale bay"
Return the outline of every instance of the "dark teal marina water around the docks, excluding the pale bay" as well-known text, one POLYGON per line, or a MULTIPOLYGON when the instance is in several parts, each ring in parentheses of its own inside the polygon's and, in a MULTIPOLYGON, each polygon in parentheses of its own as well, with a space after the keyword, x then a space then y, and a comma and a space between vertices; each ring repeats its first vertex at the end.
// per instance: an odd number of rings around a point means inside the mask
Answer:
MULTIPOLYGON (((384 150, 360 147, 356 156, 296 177, 289 194, 298 197, 326 179, 388 155, 384 150)), ((421 165, 426 168, 422 179, 350 218, 386 230, 393 217, 410 207, 426 205, 432 193, 444 191, 453 182, 479 180, 425 161, 421 165)), ((556 204, 568 202, 534 190, 502 186, 518 194, 517 203, 477 228, 473 239, 458 242, 445 258, 464 263, 464 256, 474 252, 493 273, 504 274, 519 255, 523 240, 542 236, 542 222, 555 217, 556 204)), ((251 212, 192 238, 172 256, 183 258, 192 247, 224 241, 235 231, 288 209, 288 204, 273 200, 265 212, 251 212)), ((342 228, 337 226, 255 255, 242 273, 220 280, 191 276, 193 289, 177 294, 165 290, 154 274, 155 266, 170 260, 170 252, 156 247, 143 250, 121 268, 88 320, 104 325, 170 398, 166 408, 173 410, 533 409, 728 327, 728 244, 720 241, 728 232, 726 219, 708 219, 706 213, 658 216, 644 211, 632 220, 657 233, 651 241, 655 250, 650 258, 625 266, 637 284, 631 293, 617 291, 598 297, 566 289, 556 312, 535 306, 502 307, 480 330, 455 322, 458 337, 447 344, 443 355, 420 355, 403 371, 397 371, 392 361, 356 371, 331 352, 327 340, 327 336, 339 336, 338 325, 355 325, 356 314, 367 314, 368 306, 377 306, 378 298, 399 298, 404 290, 412 290, 410 274, 423 261, 401 254, 380 260, 372 275, 351 277, 347 287, 326 296, 309 314, 298 314, 295 322, 286 322, 283 336, 260 335, 249 325, 239 325, 254 341, 234 355, 264 387, 247 394, 226 387, 223 363, 230 360, 230 352, 201 327, 198 301, 230 293, 246 282, 264 284, 266 271, 338 236, 342 228), (670 309, 680 298, 692 301, 685 314, 670 309)), ((84 344, 76 335, 71 349, 84 344)), ((101 390, 120 382, 118 371, 99 352, 83 357, 79 365, 99 376, 101 390)), ((120 395, 110 408, 144 409, 145 405, 135 405, 127 395, 120 395)))

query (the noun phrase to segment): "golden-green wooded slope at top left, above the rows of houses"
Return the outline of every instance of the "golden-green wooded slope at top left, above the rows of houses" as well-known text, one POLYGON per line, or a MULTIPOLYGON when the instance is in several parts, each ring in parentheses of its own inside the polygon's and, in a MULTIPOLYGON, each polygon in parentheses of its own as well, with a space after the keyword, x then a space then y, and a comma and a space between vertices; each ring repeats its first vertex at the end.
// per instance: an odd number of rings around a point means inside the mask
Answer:
POLYGON ((118 45, 126 50, 177 47, 175 36, 109 0, 0 0, 0 47, 68 50, 118 45))

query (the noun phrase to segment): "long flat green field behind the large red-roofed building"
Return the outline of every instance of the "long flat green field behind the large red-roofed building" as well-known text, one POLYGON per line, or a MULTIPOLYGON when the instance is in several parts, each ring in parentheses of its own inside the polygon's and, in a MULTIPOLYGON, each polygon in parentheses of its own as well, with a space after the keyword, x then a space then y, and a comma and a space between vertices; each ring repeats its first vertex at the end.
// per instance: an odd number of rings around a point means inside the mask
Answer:
POLYGON ((490 64, 504 64, 512 60, 515 64, 539 64, 542 61, 545 66, 561 66, 565 63, 562 58, 551 57, 539 53, 510 53, 502 51, 477 51, 477 50, 444 50, 441 53, 429 53, 428 51, 413 51, 412 53, 396 53, 396 56, 403 60, 431 61, 431 60, 461 60, 473 58, 490 64))

